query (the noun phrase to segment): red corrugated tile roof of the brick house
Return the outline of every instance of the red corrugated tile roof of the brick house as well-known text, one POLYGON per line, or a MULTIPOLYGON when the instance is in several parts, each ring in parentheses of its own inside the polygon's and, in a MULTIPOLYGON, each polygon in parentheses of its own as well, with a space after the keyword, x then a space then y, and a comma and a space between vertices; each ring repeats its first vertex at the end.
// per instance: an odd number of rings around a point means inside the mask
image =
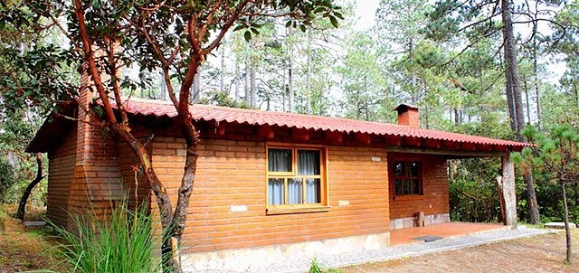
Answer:
MULTIPOLYGON (((171 102, 150 99, 129 99, 124 102, 129 113, 137 116, 176 117, 176 109, 171 102)), ((454 141, 489 146, 510 146, 520 150, 527 143, 495 139, 484 136, 470 136, 438 130, 413 128, 380 122, 369 122, 347 118, 328 118, 293 113, 281 113, 242 108, 225 108, 195 104, 190 106, 195 119, 205 121, 226 121, 229 123, 296 127, 308 130, 338 131, 343 133, 368 133, 382 136, 408 136, 422 139, 454 141)))

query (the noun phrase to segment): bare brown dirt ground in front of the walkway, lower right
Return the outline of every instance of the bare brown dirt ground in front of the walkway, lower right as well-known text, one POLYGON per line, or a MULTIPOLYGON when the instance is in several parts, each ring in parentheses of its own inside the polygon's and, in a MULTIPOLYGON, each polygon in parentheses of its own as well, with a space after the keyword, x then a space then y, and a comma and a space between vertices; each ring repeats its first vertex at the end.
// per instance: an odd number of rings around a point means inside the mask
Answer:
POLYGON ((565 264, 565 232, 339 268, 350 272, 579 272, 579 231, 572 264, 565 264))

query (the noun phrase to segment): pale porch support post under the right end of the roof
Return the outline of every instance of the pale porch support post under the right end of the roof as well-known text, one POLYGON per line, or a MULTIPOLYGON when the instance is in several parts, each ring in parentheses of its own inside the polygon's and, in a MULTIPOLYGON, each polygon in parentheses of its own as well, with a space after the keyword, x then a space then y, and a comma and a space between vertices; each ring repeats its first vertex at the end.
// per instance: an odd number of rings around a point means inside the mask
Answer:
POLYGON ((503 166, 502 192, 505 200, 505 224, 517 229, 517 195, 515 193, 515 165, 509 155, 501 157, 503 166))

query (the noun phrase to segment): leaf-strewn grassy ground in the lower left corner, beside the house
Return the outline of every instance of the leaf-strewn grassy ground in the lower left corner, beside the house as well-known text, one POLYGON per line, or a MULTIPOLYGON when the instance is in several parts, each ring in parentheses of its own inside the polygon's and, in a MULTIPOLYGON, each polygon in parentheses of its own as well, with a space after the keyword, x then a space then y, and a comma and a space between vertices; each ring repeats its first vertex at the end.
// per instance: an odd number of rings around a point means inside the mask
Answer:
MULTIPOLYGON (((47 230, 27 231, 20 221, 9 217, 12 208, 0 208, 5 233, 0 234, 0 273, 23 271, 70 272, 71 269, 55 251, 56 240, 47 230)), ((39 220, 42 213, 33 212, 27 220, 39 220)))

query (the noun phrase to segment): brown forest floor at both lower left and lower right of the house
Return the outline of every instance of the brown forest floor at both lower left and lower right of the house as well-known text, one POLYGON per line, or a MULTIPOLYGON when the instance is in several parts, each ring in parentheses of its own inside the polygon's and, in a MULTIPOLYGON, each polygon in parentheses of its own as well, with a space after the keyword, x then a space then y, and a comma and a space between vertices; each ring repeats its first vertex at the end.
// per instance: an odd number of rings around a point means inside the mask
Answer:
MULTIPOLYGON (((69 272, 56 251, 57 241, 46 230, 27 231, 20 221, 0 208, 5 234, 0 234, 0 273, 49 269, 69 272)), ((34 213, 33 213, 34 215, 34 213)), ((39 214, 40 215, 40 214, 39 214)), ((33 217, 27 217, 33 221, 33 217)), ((565 232, 507 240, 467 249, 449 250, 419 257, 339 268, 350 272, 579 272, 579 230, 573 231, 575 254, 566 265, 565 232)))

